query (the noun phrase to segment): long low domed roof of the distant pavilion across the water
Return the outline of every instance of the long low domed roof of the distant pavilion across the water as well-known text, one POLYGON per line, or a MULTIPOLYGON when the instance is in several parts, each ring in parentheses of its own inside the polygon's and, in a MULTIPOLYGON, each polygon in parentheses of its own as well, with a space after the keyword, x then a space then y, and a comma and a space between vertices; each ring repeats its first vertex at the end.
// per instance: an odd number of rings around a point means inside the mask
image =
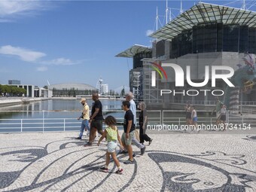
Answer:
POLYGON ((96 90, 95 87, 90 86, 89 84, 74 84, 74 83, 69 83, 69 84, 51 84, 48 86, 49 90, 63 90, 63 89, 75 89, 75 90, 96 90))

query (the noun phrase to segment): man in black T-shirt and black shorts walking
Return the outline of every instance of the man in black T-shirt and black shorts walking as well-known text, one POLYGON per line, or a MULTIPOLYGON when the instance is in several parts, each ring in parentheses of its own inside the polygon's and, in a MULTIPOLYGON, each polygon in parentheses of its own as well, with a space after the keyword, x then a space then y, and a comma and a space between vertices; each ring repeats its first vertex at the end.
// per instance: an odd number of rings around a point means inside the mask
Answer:
POLYGON ((93 93, 92 99, 94 101, 91 116, 90 116, 90 139, 87 144, 84 145, 84 147, 93 145, 93 141, 96 136, 96 131, 98 131, 99 134, 103 134, 102 130, 102 121, 103 113, 102 113, 102 102, 99 101, 99 95, 98 93, 93 93))

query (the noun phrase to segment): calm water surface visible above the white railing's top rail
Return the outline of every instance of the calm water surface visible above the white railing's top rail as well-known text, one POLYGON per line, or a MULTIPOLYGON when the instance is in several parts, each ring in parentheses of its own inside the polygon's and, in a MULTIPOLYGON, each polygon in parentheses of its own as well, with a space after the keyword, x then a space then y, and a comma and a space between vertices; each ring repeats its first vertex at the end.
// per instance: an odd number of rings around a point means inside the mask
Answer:
MULTIPOLYGON (((1 119, 26 119, 26 118, 45 118, 52 117, 76 117, 81 113, 82 106, 80 99, 49 99, 40 102, 31 102, 29 104, 16 104, 0 107, 1 119), (43 112, 44 111, 44 112, 43 112), (70 112, 75 114, 70 114, 70 112)), ((121 110, 121 100, 102 99, 103 111, 121 110)), ((87 99, 90 108, 93 105, 92 99, 87 99)))

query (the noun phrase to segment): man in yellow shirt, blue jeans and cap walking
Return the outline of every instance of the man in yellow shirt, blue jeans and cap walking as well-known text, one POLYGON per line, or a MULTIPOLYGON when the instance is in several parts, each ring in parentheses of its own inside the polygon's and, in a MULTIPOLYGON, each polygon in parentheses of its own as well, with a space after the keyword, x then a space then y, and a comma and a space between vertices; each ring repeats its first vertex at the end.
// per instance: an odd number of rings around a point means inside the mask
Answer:
POLYGON ((80 130, 80 134, 76 139, 82 139, 84 130, 87 130, 87 136, 89 136, 90 134, 90 126, 89 126, 89 106, 87 105, 86 99, 82 98, 81 99, 81 104, 83 105, 83 112, 81 114, 80 117, 78 117, 78 120, 82 119, 82 123, 81 123, 81 130, 80 130))

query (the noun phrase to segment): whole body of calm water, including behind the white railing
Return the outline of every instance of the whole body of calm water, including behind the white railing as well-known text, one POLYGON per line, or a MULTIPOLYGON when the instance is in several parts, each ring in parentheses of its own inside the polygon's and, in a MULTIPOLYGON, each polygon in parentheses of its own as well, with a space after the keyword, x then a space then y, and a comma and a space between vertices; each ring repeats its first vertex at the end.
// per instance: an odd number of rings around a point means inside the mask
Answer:
MULTIPOLYGON (((18 104, 0 107, 0 132, 20 132, 47 130, 79 130, 82 105, 80 99, 50 99, 29 104, 18 104), (65 122, 63 119, 66 118, 65 122), (65 125, 64 125, 65 124, 65 125), (47 128, 48 127, 48 128, 47 128)), ((105 115, 123 117, 122 100, 102 99, 102 110, 105 115), (109 112, 113 111, 113 112, 109 112)), ((92 99, 87 104, 93 105, 92 99)))

